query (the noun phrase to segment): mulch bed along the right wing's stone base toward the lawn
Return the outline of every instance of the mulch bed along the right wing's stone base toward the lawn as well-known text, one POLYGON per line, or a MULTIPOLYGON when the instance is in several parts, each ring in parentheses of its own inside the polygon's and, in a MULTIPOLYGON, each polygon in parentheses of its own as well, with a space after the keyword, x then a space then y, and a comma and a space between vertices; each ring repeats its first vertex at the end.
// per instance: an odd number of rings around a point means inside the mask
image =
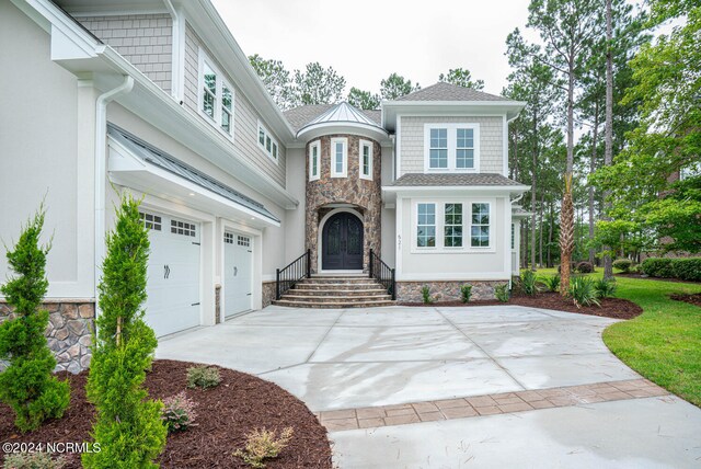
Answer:
POLYGON ((556 293, 543 291, 533 296, 516 294, 512 296, 508 302, 501 302, 497 300, 475 300, 467 304, 461 301, 435 301, 430 305, 424 305, 422 302, 400 302, 400 305, 437 307, 518 305, 528 306, 531 308, 554 309, 558 311, 577 312, 579 314, 599 316, 613 319, 632 319, 643 313, 643 309, 640 306, 627 299, 601 298, 599 299, 599 302, 601 304, 600 307, 594 305, 577 308, 570 298, 563 298, 560 294, 556 293))

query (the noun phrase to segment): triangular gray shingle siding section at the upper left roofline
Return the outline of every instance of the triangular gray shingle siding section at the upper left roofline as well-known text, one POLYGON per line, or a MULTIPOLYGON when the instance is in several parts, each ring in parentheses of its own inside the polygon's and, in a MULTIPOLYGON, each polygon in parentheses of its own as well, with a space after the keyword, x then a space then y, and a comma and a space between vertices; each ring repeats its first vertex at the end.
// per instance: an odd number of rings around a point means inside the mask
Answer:
POLYGON ((172 82, 172 20, 168 14, 76 18, 88 31, 166 92, 172 82))

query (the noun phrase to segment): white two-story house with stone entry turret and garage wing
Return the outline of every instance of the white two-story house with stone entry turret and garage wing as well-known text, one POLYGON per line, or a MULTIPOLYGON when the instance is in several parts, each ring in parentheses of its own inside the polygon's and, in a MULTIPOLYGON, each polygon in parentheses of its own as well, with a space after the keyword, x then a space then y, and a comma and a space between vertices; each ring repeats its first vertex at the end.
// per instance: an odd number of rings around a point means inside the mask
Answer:
POLYGON ((71 370, 124 191, 142 198, 159 336, 269 305, 300 256, 297 276, 381 260, 400 301, 490 296, 518 272, 522 103, 438 83, 283 113, 208 0, 0 0, 0 238, 46 201, 49 341, 71 370))

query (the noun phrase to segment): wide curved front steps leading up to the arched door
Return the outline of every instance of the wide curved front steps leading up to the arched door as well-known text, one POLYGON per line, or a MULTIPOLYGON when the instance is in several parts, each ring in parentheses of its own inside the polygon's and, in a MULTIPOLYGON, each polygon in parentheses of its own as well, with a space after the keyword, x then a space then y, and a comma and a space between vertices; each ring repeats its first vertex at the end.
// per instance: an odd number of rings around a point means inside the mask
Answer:
POLYGON ((391 295, 367 275, 314 275, 290 288, 273 305, 291 308, 377 308, 392 306, 391 295))

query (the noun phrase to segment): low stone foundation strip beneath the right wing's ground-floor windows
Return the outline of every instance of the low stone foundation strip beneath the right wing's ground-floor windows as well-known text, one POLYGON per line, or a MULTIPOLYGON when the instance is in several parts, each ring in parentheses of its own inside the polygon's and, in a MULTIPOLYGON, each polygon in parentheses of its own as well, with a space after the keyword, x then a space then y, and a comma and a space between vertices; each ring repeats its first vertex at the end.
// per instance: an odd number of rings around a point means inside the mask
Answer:
POLYGON ((475 282, 398 282, 397 300, 402 302, 424 302, 422 289, 428 286, 434 301, 459 301, 462 298, 460 287, 472 285, 471 300, 496 299, 494 288, 506 284, 507 281, 475 281, 475 282))

